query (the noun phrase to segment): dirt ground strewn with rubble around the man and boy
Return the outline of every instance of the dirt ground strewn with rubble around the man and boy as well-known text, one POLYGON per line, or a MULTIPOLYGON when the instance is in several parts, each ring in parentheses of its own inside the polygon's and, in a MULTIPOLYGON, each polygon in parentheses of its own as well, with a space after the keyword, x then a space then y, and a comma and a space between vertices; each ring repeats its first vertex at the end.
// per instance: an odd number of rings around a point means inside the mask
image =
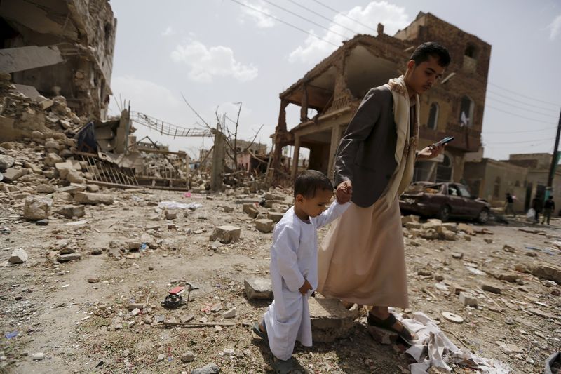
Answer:
MULTIPOLYGON (((46 226, 22 218, 22 200, 2 204, 0 372, 190 373, 215 363, 221 373, 269 373, 271 353, 249 327, 268 302, 248 301, 243 281, 268 276, 272 234, 258 232, 239 203, 259 201, 262 195, 241 196, 241 190, 208 197, 148 189, 102 193, 115 202, 86 206, 79 220, 51 213, 46 226), (157 207, 160 201, 202 206, 166 220, 157 207), (233 211, 227 213, 229 208, 233 211), (69 225, 76 221, 86 222, 69 225), (213 245, 209 236, 218 225, 241 227, 241 240, 213 245), (142 234, 154 239, 154 249, 120 251, 142 234), (8 265, 16 248, 23 248, 29 259, 8 265), (55 258, 61 248, 74 248, 81 260, 59 264, 55 258), (188 309, 161 307, 167 290, 185 282, 196 287, 188 309), (146 307, 130 316, 130 302, 146 307), (217 303, 222 310, 211 312, 213 306, 219 308, 217 303), (226 320, 222 313, 230 307, 236 307, 236 317, 226 320), (231 321, 236 326, 162 328, 154 323, 160 315, 186 321, 190 314, 195 322, 231 321), (6 338, 13 332, 15 337, 6 338), (187 351, 194 361, 183 363, 187 351), (44 359, 33 360, 38 352, 44 359)), ((67 194, 53 197, 55 206, 66 203, 67 194)), ((552 224, 528 226, 522 219, 489 224, 489 234, 468 236, 471 240, 405 237, 411 304, 405 312, 421 311, 440 321, 458 347, 506 363, 512 373, 543 373, 544 359, 561 346, 561 286, 518 270, 534 262, 561 265, 561 252, 553 244, 561 238, 561 220, 552 224), (505 245, 513 249, 505 251, 505 245), (516 265, 522 267, 517 270, 516 265), (512 283, 496 278, 501 276, 512 283), (499 285, 501 293, 480 290, 482 281, 499 285), (454 293, 459 287, 475 293, 477 308, 461 304, 454 293), (464 322, 447 321, 441 312, 459 314, 464 322)), ((356 320, 349 337, 311 349, 297 347, 295 356, 312 373, 409 373, 412 362, 400 347, 375 342, 364 319, 356 320)), ((468 371, 454 366, 455 373, 468 371)))

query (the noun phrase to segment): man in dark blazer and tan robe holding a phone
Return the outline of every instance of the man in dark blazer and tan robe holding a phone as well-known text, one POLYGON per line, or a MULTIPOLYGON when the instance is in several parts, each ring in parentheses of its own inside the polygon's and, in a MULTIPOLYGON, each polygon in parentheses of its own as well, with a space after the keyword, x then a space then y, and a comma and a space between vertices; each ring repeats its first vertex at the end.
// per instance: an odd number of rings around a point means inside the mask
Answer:
POLYGON ((372 305, 368 323, 416 337, 388 307, 406 308, 407 281, 398 198, 410 184, 416 159, 432 159, 443 146, 417 151, 419 96, 442 77, 450 54, 421 44, 405 76, 370 89, 337 149, 335 184, 352 187, 352 204, 332 224, 318 253, 318 291, 347 303, 372 305))

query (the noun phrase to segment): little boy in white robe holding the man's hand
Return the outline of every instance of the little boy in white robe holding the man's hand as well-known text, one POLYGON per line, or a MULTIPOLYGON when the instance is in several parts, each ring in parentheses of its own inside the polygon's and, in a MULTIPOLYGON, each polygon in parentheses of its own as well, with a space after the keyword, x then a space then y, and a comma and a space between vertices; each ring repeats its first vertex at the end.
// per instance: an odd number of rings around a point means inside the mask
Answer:
POLYGON ((308 298, 318 286, 317 229, 339 217, 351 205, 350 187, 337 191, 326 209, 333 185, 319 171, 304 171, 294 183, 295 205, 277 223, 271 246, 271 281, 274 300, 252 330, 269 342, 273 368, 288 373, 294 366, 296 340, 311 347, 308 298))

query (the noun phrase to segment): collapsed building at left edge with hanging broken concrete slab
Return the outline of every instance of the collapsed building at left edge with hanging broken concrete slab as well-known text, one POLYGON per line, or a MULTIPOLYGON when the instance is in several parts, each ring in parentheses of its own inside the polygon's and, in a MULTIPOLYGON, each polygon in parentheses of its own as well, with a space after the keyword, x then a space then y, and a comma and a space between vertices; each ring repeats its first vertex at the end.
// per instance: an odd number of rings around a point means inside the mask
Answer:
POLYGON ((65 96, 79 116, 106 119, 116 25, 107 0, 2 0, 0 72, 18 89, 65 96))

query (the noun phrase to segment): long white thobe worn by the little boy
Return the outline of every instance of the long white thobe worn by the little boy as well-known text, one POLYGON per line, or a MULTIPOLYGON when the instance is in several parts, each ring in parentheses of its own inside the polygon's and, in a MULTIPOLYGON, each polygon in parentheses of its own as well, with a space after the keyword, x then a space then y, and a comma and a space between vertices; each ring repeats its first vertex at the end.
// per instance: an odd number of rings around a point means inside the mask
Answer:
POLYGON ((296 340, 311 347, 308 298, 318 286, 317 229, 342 215, 350 205, 334 201, 309 222, 300 220, 292 207, 275 227, 271 246, 274 300, 265 312, 264 321, 269 347, 277 359, 290 359, 296 340), (306 295, 298 290, 304 285, 304 278, 312 287, 306 295))

